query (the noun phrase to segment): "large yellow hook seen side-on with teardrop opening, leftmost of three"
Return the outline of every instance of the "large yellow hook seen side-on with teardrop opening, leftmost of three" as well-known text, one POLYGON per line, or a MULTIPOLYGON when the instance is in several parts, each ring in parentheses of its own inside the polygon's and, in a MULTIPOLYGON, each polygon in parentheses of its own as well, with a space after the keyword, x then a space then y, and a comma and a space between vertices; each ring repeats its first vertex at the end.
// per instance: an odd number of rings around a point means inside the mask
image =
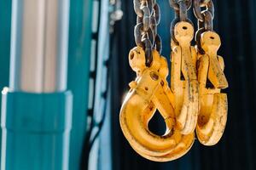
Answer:
POLYGON ((153 62, 146 67, 143 48, 131 49, 129 62, 137 78, 130 83, 131 89, 121 107, 120 126, 138 154, 152 161, 172 161, 187 153, 194 143, 194 133, 183 135, 177 129, 174 98, 166 82, 167 62, 156 50, 152 54, 153 62), (166 122, 163 136, 148 130, 148 122, 156 109, 166 122))

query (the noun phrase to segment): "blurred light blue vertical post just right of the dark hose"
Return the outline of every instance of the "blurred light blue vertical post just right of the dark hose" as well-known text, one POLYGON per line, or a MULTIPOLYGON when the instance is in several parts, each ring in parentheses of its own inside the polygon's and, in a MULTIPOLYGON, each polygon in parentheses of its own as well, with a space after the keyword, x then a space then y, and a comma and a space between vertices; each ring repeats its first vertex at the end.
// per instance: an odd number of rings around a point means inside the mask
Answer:
MULTIPOLYGON (((95 1, 96 2, 96 1, 95 1)), ((99 38, 96 63, 96 93, 94 101, 94 119, 96 122, 104 119, 104 124, 101 130, 100 138, 96 139, 94 147, 90 153, 90 170, 110 170, 112 169, 112 154, 111 154, 111 126, 110 126, 110 93, 108 92, 108 68, 109 63, 109 1, 102 0, 100 8, 99 22, 99 38), (101 38, 104 37, 104 38, 101 38), (108 96, 104 96, 108 92, 108 96), (107 99, 108 97, 108 99, 107 99), (106 114, 106 116, 104 116, 106 114)), ((110 64, 109 64, 110 65, 110 64)))

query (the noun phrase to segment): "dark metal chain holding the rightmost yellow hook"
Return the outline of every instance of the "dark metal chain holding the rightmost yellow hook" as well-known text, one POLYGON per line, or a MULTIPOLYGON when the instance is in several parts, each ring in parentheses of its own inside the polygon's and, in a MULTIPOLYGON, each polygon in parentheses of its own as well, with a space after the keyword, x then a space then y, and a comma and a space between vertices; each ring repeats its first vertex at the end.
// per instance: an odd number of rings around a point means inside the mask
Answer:
POLYGON ((198 20, 198 30, 195 33, 195 42, 201 54, 204 54, 201 48, 200 37, 205 31, 213 31, 214 5, 212 0, 194 0, 194 14, 198 20), (201 10, 201 8, 206 8, 201 10))

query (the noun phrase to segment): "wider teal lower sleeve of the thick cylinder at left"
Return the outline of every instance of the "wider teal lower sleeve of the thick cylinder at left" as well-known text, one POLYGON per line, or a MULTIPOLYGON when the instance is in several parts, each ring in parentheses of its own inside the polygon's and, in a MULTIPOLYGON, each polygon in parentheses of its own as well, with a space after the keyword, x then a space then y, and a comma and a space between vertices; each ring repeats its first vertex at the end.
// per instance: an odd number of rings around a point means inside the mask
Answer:
POLYGON ((3 170, 68 170, 72 94, 3 89, 3 170))

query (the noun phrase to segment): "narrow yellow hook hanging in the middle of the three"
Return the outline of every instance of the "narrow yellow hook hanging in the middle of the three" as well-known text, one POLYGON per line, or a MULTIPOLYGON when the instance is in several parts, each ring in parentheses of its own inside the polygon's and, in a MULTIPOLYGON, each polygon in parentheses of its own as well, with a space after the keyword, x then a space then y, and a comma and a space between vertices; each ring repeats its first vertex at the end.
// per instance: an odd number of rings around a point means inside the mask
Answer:
POLYGON ((189 22, 177 22, 174 26, 172 41, 171 88, 175 98, 177 125, 181 133, 188 134, 195 130, 197 123, 198 82, 195 71, 196 51, 190 45, 194 37, 194 28, 189 22))

